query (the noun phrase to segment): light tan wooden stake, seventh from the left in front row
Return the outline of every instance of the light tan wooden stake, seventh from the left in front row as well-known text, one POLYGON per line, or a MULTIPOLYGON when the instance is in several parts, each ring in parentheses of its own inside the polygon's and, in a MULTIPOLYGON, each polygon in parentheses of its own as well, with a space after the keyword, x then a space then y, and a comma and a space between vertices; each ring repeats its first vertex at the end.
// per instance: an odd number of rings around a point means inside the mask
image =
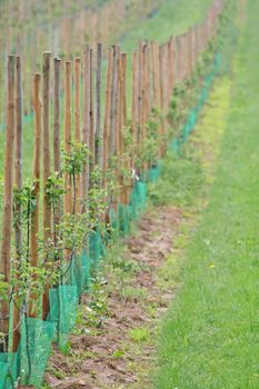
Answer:
MULTIPOLYGON (((74 59, 74 139, 81 142, 81 116, 80 116, 80 78, 81 78, 81 60, 74 59)), ((76 212, 81 211, 81 177, 76 178, 76 212)))

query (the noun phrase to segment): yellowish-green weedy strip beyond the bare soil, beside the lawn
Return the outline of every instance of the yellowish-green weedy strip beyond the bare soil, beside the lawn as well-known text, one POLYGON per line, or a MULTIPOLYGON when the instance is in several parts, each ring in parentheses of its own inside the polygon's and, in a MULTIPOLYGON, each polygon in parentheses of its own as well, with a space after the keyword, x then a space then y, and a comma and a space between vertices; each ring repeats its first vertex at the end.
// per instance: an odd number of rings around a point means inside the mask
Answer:
POLYGON ((179 153, 168 151, 162 160, 161 177, 148 188, 153 206, 175 206, 187 212, 200 210, 213 180, 213 162, 225 130, 229 90, 227 77, 217 81, 191 138, 179 153))

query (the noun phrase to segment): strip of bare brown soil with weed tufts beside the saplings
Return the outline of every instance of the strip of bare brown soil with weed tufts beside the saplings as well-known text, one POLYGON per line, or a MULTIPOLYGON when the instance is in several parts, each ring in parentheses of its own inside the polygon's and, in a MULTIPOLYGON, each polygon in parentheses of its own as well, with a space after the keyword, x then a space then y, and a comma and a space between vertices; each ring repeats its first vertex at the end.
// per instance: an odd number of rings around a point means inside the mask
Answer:
POLYGON ((177 208, 152 209, 141 218, 137 232, 121 242, 135 270, 122 280, 109 266, 104 269, 106 315, 92 328, 88 318, 92 296, 82 296, 79 333, 70 336, 68 355, 56 349, 50 358, 46 382, 51 388, 150 388, 156 327, 176 293, 173 287, 161 287, 158 273, 181 219, 177 208))

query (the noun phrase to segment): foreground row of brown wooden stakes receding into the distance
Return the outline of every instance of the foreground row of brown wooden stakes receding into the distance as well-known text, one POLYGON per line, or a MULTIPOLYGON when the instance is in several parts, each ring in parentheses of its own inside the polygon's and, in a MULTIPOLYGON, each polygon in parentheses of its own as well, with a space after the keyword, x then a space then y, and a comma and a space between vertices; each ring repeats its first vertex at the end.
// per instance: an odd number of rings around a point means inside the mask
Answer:
MULTIPOLYGON (((122 131, 128 119, 131 120, 132 141, 135 144, 145 142, 146 124, 151 109, 158 108, 166 113, 170 103, 173 87, 188 79, 197 63, 198 57, 205 51, 208 41, 216 34, 222 1, 215 0, 212 8, 201 24, 190 29, 179 37, 171 37, 168 42, 140 42, 132 53, 131 102, 127 102, 127 69, 129 58, 121 52, 119 46, 108 49, 104 113, 102 119, 101 80, 103 68, 102 44, 97 44, 96 52, 86 46, 82 58, 76 58, 73 63, 63 64, 64 109, 61 107, 61 66, 59 58, 53 59, 53 87, 51 78, 51 53, 43 53, 42 74, 33 76, 33 109, 34 109, 34 148, 33 148, 33 191, 37 199, 36 210, 31 216, 30 258, 32 266, 38 266, 38 232, 40 220, 40 182, 43 182, 42 231, 44 241, 51 237, 53 223, 59 223, 61 212, 72 213, 71 182, 66 173, 66 194, 63 209, 52 220, 51 207, 46 193, 46 183, 53 171, 60 171, 60 139, 61 116, 63 114, 64 151, 71 151, 71 140, 83 142, 90 150, 86 159, 83 171, 77 179, 77 209, 83 211, 82 202, 87 198, 90 187, 90 172, 94 166, 107 171, 110 158, 123 152, 122 131), (93 62, 96 66, 93 66, 93 62), (73 64, 73 74, 72 74, 73 64), (72 77, 73 76, 73 77, 72 77), (93 79, 94 76, 94 79, 93 79), (73 79, 73 80, 72 80, 73 79), (73 82, 72 82, 73 81, 73 82), (73 88, 72 88, 73 86, 73 88), (81 88, 82 86, 82 88, 81 88), (52 91, 52 92, 51 92, 52 91), (72 99, 73 118, 72 118, 72 99), (50 104, 53 107, 51 137, 50 104), (130 110, 129 110, 130 106, 130 110), (73 126, 72 126, 73 123, 73 126), (73 128, 72 128, 73 127, 73 128), (51 139, 53 144, 51 146, 51 139), (52 150, 52 156, 51 156, 52 150), (41 171, 42 166, 42 171, 41 171)), ((22 188, 22 80, 21 58, 8 58, 8 91, 7 91, 7 130, 4 159, 4 193, 2 211, 2 239, 0 273, 3 281, 10 283, 11 245, 12 245, 12 198, 13 183, 22 188)), ((163 114, 160 136, 168 131, 168 122, 163 114)), ((165 152, 163 144, 160 157, 165 152)), ((135 168, 135 161, 126 166, 128 170, 135 168)), ((142 170, 148 166, 143 166, 142 170)), ((118 178, 119 179, 119 178, 118 178)), ((121 183, 121 182, 120 182, 121 183)), ((120 201, 129 202, 130 188, 123 188, 120 201)), ((19 213, 19 209, 16 210, 19 213)), ((22 245, 22 232, 16 228, 18 250, 22 245)), ((43 295, 42 319, 49 312, 48 287, 43 295)), ((1 303, 0 331, 8 333, 10 301, 1 303)), ((33 316, 31 313, 31 316, 33 316)), ((12 349, 17 350, 20 337, 20 312, 13 309, 12 349)))

